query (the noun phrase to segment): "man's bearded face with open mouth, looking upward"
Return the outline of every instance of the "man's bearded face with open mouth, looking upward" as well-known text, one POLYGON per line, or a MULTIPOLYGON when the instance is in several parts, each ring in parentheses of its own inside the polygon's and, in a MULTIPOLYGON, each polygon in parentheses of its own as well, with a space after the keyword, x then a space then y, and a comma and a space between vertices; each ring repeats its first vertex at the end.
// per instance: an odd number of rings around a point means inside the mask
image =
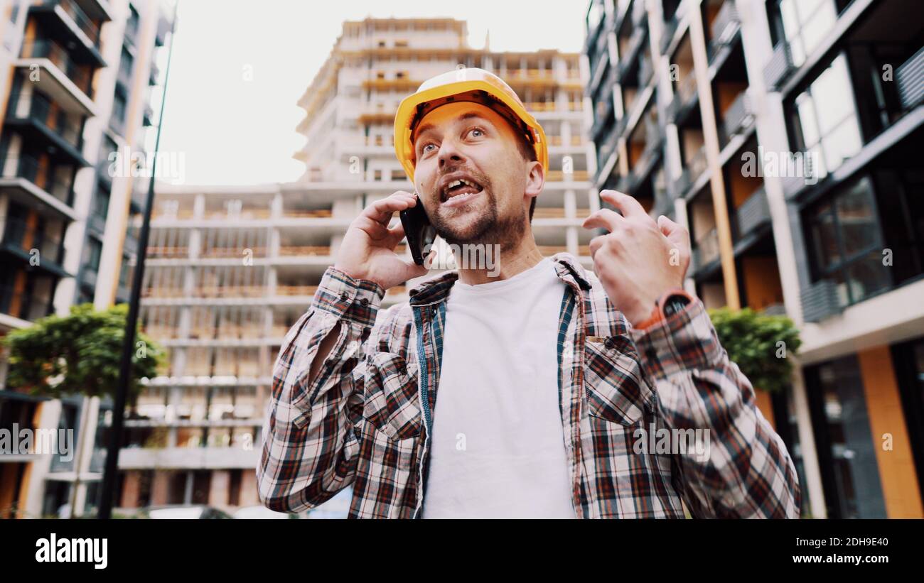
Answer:
POLYGON ((417 192, 444 240, 510 247, 522 238, 542 169, 523 159, 499 113, 470 101, 437 107, 420 120, 414 152, 417 192))

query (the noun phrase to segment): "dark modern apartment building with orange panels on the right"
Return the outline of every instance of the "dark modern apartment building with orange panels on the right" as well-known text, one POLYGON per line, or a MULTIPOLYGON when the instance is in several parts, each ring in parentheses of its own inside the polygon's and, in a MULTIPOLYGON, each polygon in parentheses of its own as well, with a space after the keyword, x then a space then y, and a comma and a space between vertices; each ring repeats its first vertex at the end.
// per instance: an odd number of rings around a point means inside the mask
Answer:
POLYGON ((922 16, 912 0, 588 8, 594 185, 687 225, 708 307, 801 330, 791 387, 758 397, 804 516, 924 516, 922 16))

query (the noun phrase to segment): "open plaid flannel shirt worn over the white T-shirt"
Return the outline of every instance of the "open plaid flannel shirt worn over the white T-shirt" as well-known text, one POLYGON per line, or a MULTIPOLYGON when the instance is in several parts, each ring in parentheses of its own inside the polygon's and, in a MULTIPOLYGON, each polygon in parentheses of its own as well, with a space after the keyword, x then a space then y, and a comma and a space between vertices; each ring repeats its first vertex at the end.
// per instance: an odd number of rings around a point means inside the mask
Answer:
MULTIPOLYGON (((694 517, 797 518, 792 459, 703 304, 635 329, 573 256, 553 260, 566 283, 558 388, 577 518, 684 518, 682 503, 694 517), (709 456, 639 448, 639 428, 708 429, 709 456)), ((274 365, 257 467, 265 506, 298 512, 352 486, 350 518, 419 518, 457 278, 424 281, 408 303, 380 312, 380 285, 325 271, 274 365)))

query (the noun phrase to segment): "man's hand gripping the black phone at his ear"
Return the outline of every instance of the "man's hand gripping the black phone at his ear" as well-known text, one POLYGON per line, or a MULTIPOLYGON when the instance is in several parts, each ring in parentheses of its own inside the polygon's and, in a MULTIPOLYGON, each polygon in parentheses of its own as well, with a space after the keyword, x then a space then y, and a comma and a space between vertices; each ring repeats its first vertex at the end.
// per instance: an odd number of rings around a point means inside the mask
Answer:
POLYGON ((364 208, 346 229, 334 268, 355 280, 375 281, 385 290, 425 275, 426 267, 395 253, 395 247, 405 236, 401 222, 388 228, 395 212, 417 204, 416 196, 399 190, 364 208))

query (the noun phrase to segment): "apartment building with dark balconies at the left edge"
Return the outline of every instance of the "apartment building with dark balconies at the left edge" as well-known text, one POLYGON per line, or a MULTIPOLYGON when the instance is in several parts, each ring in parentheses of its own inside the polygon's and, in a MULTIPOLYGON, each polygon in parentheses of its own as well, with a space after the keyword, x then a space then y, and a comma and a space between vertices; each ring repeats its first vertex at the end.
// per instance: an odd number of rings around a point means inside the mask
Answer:
MULTIPOLYGON (((147 189, 110 154, 146 149, 171 14, 156 0, 0 2, 0 336, 128 301, 147 189)), ((0 454, 0 518, 91 512, 111 404, 6 387, 4 360, 0 428, 72 429, 77 451, 0 454)))

